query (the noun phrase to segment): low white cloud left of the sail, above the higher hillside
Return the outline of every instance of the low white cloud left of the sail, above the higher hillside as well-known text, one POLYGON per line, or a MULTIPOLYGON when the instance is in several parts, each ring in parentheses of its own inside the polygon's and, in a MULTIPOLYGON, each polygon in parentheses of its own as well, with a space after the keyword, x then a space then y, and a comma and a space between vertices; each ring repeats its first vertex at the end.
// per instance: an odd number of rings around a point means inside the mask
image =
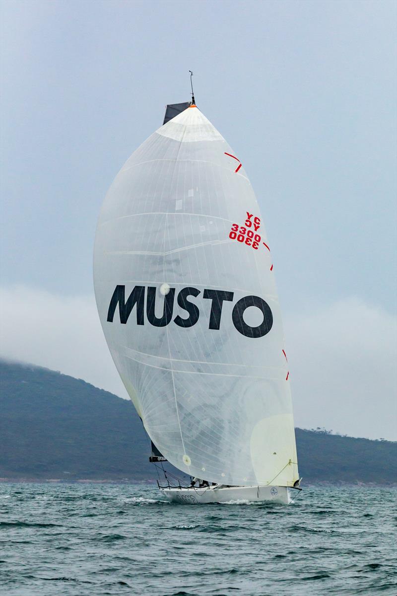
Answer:
POLYGON ((82 378, 120 397, 126 389, 102 333, 95 298, 15 285, 2 290, 1 353, 82 378))

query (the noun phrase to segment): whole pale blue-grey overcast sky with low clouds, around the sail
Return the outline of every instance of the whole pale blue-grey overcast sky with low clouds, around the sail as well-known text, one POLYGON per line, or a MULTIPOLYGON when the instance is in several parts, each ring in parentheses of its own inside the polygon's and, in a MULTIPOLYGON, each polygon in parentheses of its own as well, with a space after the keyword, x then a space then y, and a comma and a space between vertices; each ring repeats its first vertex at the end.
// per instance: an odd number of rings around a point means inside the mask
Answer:
POLYGON ((2 2, 2 355, 125 397, 93 300, 99 207, 196 103, 243 162, 296 426, 396 438, 396 3, 2 2))

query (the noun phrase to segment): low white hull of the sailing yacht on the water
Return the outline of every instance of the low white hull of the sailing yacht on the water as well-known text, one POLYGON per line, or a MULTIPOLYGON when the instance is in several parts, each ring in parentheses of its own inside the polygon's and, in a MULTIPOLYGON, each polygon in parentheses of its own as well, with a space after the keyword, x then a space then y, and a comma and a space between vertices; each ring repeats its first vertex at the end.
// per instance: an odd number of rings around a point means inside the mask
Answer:
POLYGON ((170 501, 185 505, 238 501, 288 505, 292 499, 286 486, 210 486, 205 488, 160 488, 170 501))

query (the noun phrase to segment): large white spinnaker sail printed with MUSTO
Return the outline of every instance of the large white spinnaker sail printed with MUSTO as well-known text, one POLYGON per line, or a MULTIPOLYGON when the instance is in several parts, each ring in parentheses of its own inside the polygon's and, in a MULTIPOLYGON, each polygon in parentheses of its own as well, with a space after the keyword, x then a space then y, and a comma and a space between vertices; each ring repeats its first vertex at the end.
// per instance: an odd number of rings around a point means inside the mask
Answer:
POLYGON ((195 106, 140 145, 99 216, 96 302, 118 372, 171 464, 227 485, 292 486, 271 253, 237 157, 195 106))

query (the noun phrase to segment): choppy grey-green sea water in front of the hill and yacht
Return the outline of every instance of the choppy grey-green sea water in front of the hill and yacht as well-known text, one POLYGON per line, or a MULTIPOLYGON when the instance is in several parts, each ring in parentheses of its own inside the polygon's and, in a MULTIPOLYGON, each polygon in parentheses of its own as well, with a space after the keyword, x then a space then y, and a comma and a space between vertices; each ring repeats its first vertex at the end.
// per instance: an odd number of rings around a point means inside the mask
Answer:
POLYGON ((151 485, 3 483, 2 596, 397 594, 396 496, 178 505, 151 485))

